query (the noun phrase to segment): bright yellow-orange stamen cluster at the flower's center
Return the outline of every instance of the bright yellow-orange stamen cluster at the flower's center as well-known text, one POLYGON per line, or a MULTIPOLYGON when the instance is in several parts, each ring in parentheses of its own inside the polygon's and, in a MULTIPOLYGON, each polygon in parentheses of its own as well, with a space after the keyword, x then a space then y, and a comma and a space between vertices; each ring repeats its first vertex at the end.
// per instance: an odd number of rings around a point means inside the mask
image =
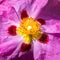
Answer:
POLYGON ((33 18, 24 18, 17 28, 17 34, 23 36, 24 42, 31 43, 32 39, 41 37, 41 24, 33 18))

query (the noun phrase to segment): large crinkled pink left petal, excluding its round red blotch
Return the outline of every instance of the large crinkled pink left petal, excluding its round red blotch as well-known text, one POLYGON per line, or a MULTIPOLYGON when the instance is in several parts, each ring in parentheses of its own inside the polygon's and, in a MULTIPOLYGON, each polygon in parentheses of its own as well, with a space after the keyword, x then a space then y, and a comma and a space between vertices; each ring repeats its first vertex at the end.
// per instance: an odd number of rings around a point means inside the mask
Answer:
MULTIPOLYGON (((2 55, 4 54, 8 54, 7 52, 16 48, 21 41, 20 36, 17 35, 11 36, 8 33, 8 28, 11 25, 18 26, 20 22, 18 22, 19 19, 15 9, 11 6, 8 7, 8 4, 6 4, 5 6, 5 4, 1 6, 1 11, 0 11, 3 12, 2 14, 0 14, 0 19, 1 19, 0 20, 0 57, 2 57, 2 55)), ((2 60, 3 58, 4 57, 2 57, 2 60)))

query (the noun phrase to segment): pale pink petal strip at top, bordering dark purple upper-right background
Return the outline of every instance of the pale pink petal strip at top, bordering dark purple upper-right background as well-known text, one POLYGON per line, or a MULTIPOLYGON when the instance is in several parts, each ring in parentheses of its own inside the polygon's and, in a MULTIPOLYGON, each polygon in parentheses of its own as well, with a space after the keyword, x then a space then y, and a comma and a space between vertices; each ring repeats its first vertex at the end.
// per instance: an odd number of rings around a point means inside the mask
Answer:
POLYGON ((41 9, 47 4, 48 0, 35 0, 31 6, 30 17, 36 18, 41 9))

